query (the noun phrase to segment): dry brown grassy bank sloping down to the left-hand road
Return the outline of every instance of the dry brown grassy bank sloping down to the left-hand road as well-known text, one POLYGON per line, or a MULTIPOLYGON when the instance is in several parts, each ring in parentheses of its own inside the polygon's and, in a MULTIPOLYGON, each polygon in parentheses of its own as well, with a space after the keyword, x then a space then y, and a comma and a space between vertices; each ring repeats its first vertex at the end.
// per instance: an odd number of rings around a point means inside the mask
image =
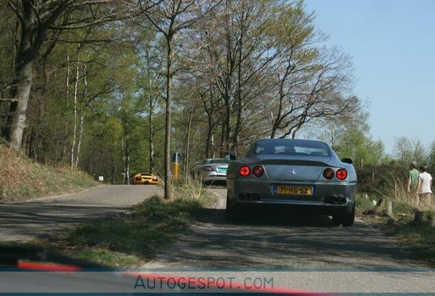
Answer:
POLYGON ((38 164, 0 145, 0 202, 72 193, 96 184, 82 171, 38 164))

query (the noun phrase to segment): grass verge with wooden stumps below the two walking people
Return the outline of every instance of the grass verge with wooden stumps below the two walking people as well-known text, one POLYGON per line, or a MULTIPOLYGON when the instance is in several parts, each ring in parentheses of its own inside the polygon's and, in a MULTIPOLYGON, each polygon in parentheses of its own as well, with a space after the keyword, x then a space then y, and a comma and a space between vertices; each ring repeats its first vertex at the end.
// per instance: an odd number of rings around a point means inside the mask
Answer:
POLYGON ((393 236, 415 259, 435 267, 435 232, 427 219, 434 214, 433 210, 425 211, 423 222, 414 222, 416 209, 407 201, 393 201, 395 219, 391 219, 384 207, 374 206, 372 199, 362 195, 356 198, 356 209, 358 217, 393 236))

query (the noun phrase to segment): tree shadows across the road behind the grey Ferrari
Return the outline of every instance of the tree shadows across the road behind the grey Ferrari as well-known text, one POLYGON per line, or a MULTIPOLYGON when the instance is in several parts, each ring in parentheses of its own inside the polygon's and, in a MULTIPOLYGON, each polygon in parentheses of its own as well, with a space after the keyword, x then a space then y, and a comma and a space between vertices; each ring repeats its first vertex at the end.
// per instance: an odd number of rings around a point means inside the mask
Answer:
POLYGON ((397 245, 365 223, 332 225, 326 216, 254 212, 228 222, 206 209, 192 230, 158 256, 164 267, 212 269, 416 267, 397 245))

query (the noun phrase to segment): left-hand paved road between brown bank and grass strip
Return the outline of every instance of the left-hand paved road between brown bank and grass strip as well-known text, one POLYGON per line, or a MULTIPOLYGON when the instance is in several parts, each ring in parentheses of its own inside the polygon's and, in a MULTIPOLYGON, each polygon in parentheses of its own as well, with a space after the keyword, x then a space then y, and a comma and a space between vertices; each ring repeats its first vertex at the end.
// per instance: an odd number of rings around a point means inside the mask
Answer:
POLYGON ((157 186, 103 185, 62 197, 0 205, 0 240, 23 242, 91 219, 126 211, 159 193, 157 186))

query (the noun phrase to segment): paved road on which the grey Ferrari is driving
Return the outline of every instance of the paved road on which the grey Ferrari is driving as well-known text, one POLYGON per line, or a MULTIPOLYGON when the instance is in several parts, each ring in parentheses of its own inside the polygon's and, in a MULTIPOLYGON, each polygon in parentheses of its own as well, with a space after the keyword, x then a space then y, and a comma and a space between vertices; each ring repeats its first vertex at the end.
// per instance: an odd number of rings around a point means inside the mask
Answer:
POLYGON ((228 223, 226 190, 213 191, 219 198, 205 218, 145 268, 262 270, 256 275, 273 276, 278 286, 311 291, 435 291, 435 269, 412 261, 392 238, 363 221, 337 227, 328 217, 257 212, 246 223, 228 223))

